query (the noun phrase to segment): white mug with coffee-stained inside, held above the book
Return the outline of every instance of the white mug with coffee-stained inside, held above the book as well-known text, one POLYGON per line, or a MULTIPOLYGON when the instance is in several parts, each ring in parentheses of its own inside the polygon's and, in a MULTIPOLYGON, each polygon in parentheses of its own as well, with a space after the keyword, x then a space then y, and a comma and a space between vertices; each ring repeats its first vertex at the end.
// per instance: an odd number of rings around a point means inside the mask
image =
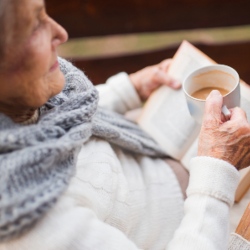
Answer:
POLYGON ((183 82, 188 110, 198 123, 202 122, 206 100, 193 95, 204 88, 226 90, 227 93, 223 95, 223 107, 226 111, 227 108, 240 106, 240 78, 235 69, 222 64, 199 68, 188 75, 183 82))

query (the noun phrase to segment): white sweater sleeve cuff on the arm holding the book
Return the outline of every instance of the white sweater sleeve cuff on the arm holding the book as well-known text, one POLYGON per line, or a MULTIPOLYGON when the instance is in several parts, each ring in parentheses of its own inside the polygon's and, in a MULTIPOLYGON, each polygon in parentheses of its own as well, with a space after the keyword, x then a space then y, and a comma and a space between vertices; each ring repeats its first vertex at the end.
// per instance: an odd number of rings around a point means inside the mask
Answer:
POLYGON ((118 113, 141 107, 141 100, 129 76, 122 72, 110 77, 105 84, 97 86, 99 105, 118 113))

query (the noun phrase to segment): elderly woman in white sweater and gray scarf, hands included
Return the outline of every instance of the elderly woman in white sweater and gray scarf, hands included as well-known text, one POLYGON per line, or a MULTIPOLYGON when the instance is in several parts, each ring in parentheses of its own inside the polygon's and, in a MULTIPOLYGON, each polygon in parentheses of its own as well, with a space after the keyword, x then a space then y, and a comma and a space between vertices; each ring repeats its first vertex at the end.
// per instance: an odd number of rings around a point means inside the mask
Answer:
POLYGON ((0 30, 0 250, 226 249, 237 169, 249 164, 241 109, 223 122, 221 95, 207 99, 184 202, 185 171, 107 110, 178 88, 169 60, 110 78, 98 108, 84 73, 57 57, 67 33, 43 0, 0 0, 0 30))

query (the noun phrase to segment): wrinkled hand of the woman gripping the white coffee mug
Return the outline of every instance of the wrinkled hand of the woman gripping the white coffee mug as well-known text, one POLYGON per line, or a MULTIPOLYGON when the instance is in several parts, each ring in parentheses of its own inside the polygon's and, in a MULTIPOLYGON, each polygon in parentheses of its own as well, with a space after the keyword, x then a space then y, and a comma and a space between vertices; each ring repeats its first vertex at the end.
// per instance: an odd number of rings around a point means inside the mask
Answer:
POLYGON ((206 100, 198 155, 225 160, 240 170, 250 165, 250 125, 242 109, 231 109, 230 120, 224 121, 221 108, 222 96, 214 90, 206 100))

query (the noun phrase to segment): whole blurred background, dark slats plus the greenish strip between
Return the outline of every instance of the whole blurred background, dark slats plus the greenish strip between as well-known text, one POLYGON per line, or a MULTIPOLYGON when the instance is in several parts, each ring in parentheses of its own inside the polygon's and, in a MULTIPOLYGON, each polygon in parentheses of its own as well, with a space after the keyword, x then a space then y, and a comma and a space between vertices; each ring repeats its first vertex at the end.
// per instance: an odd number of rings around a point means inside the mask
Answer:
POLYGON ((47 0, 69 33, 59 54, 94 84, 172 57, 188 40, 250 83, 249 0, 47 0))

